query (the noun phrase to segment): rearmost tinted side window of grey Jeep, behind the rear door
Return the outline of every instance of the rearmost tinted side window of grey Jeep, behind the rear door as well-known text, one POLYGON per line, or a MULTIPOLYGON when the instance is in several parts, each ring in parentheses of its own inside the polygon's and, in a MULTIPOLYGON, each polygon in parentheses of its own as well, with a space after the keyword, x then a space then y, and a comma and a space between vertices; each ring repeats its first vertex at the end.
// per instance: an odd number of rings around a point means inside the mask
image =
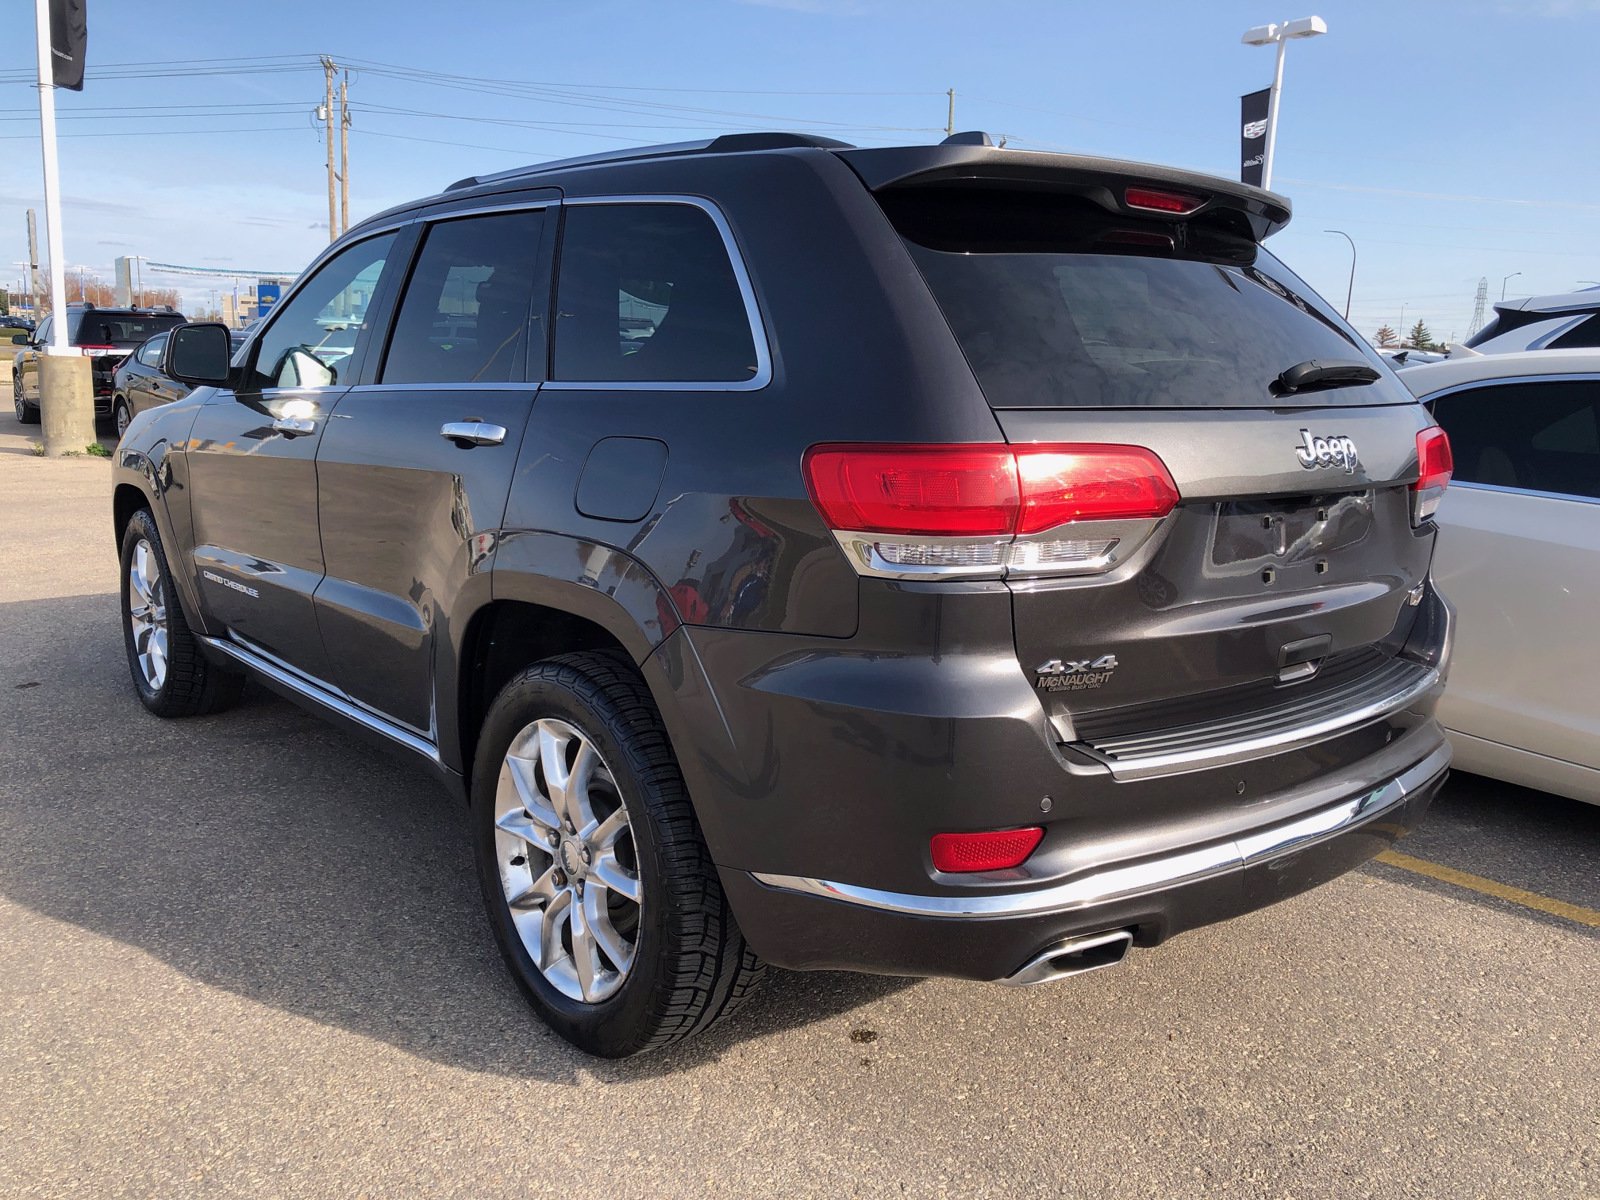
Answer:
POLYGON ((571 205, 555 379, 744 382, 755 341, 728 248, 691 205, 571 205))

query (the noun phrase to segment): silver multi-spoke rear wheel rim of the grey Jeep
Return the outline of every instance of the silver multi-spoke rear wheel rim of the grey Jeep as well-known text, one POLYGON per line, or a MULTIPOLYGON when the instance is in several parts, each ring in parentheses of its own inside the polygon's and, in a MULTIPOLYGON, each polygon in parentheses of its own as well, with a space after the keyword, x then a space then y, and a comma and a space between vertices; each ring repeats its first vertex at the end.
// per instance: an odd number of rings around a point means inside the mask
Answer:
POLYGON ((613 995, 638 952, 638 854, 616 779, 576 726, 546 718, 512 738, 494 790, 494 853, 539 973, 573 1000, 613 995))

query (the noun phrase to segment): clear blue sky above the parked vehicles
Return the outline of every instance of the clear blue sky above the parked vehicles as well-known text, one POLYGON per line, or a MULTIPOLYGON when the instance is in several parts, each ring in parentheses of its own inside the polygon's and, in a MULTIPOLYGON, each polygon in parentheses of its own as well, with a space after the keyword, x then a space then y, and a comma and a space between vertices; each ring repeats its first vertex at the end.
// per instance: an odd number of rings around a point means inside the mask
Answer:
MULTIPOLYGON (((1403 306, 1464 338, 1480 277, 1491 301, 1510 272, 1510 296, 1600 280, 1600 0, 88 5, 88 86, 58 93, 62 224, 69 266, 107 280, 117 254, 296 270, 326 242, 317 54, 352 64, 354 222, 464 174, 730 128, 936 141, 952 86, 960 130, 1234 176, 1238 94, 1272 74, 1238 37, 1309 13, 1330 34, 1288 53, 1278 256, 1342 306, 1349 246, 1322 230, 1347 230, 1368 334, 1403 306), (94 78, 125 62, 189 66, 94 78)), ((6 283, 42 206, 30 8, 0 45, 6 283)))

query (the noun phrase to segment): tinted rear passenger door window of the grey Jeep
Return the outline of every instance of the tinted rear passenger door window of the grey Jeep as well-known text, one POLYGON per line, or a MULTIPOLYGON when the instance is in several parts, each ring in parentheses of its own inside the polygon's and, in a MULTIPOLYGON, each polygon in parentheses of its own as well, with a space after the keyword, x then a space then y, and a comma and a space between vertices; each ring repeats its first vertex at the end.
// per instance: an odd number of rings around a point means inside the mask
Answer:
MULTIPOLYGON (((542 211, 469 216, 432 226, 400 302, 382 382, 525 379, 542 232, 542 211)), ((542 354, 541 338, 541 360, 542 354)))

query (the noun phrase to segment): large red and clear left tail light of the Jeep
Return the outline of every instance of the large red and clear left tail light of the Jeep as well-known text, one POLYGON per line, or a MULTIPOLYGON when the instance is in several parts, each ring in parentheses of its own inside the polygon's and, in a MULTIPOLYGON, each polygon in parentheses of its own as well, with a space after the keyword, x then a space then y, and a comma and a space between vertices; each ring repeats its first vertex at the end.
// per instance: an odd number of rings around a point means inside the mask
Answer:
POLYGON ((1178 504, 1142 446, 822 445, 811 501, 864 574, 1094 573, 1178 504))

